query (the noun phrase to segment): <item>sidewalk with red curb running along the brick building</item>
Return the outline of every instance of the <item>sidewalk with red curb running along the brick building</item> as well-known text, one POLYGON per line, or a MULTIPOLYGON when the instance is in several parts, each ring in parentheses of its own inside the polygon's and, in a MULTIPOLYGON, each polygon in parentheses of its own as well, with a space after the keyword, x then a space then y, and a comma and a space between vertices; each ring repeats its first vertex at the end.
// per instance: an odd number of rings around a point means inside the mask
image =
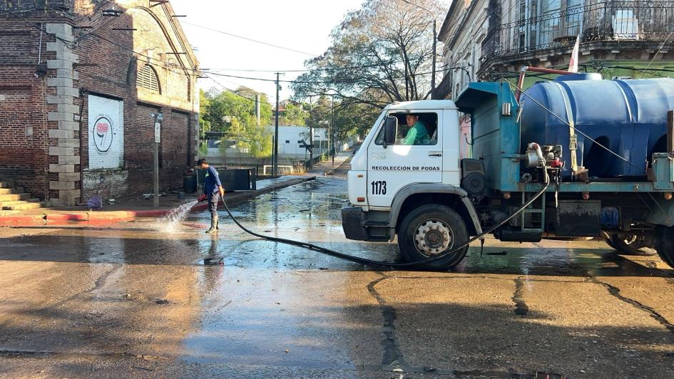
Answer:
MULTIPOLYGON (((335 164, 337 157, 335 157, 335 164)), ((225 193, 225 202, 228 206, 241 204, 260 194, 280 190, 309 180, 315 180, 316 175, 288 175, 257 182, 257 190, 225 193)), ((173 193, 159 198, 159 207, 153 207, 153 199, 144 199, 141 196, 123 199, 116 204, 104 204, 103 209, 88 209, 86 205, 76 207, 47 207, 26 209, 23 211, 0 211, 0 227, 17 225, 48 224, 50 222, 121 222, 131 221, 143 217, 163 217, 180 205, 193 202, 200 192, 187 194, 185 199, 178 200, 173 193)), ((221 202, 222 204, 222 202, 221 202)), ((208 207, 206 203, 195 204, 190 212, 198 212, 208 207)))

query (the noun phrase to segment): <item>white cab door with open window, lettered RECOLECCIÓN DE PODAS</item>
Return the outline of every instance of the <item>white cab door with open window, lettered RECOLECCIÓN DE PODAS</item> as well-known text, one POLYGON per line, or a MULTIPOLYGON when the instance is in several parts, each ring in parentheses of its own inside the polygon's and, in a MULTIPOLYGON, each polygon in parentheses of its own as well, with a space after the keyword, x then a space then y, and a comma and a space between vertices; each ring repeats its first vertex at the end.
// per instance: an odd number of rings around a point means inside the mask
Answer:
POLYGON ((377 137, 367 147, 367 204, 370 207, 390 207, 395 194, 406 185, 442 182, 442 130, 439 128, 442 113, 394 110, 389 115, 398 118, 395 144, 384 148, 382 123, 377 137), (421 127, 425 128, 425 135, 421 127), (416 138, 409 134, 412 128, 416 138))

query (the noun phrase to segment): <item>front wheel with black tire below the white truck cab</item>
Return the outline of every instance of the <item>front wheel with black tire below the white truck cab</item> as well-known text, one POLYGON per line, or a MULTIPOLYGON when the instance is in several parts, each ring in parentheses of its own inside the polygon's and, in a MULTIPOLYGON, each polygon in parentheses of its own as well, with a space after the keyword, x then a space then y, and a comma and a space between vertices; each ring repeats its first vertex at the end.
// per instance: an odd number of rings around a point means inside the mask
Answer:
MULTIPOLYGON (((398 246, 405 261, 421 261, 464 244, 468 237, 466 223, 458 213, 444 205, 427 204, 404 217, 398 231, 398 246), (422 239, 421 244, 418 239, 422 239)), ((466 251, 468 246, 417 267, 431 270, 451 269, 464 259, 466 251)))

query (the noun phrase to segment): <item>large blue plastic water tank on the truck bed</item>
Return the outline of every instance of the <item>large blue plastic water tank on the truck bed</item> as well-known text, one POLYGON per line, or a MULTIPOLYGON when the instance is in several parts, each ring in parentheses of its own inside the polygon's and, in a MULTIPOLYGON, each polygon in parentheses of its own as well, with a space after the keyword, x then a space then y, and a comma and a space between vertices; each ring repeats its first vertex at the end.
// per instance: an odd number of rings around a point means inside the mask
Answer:
POLYGON ((537 83, 521 95, 522 150, 529 142, 562 145, 564 174, 570 175, 570 128, 565 122, 573 121, 578 130, 578 166, 586 167, 591 177, 644 175, 650 155, 666 150, 667 111, 674 110, 674 79, 604 81, 583 75, 537 83), (583 133, 633 165, 598 147, 583 133))

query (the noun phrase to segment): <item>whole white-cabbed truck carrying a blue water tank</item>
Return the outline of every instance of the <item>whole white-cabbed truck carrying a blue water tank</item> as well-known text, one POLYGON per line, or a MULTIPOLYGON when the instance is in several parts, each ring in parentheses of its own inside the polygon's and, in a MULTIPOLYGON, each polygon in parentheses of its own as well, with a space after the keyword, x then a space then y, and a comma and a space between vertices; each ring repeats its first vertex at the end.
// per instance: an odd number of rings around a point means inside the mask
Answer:
POLYGON ((345 236, 397 237, 404 261, 434 270, 488 233, 598 237, 621 253, 655 249, 674 267, 674 79, 553 71, 563 75, 521 91, 525 71, 516 84, 469 83, 454 101, 387 105, 352 157, 345 236), (409 120, 427 129, 412 144, 409 120))

